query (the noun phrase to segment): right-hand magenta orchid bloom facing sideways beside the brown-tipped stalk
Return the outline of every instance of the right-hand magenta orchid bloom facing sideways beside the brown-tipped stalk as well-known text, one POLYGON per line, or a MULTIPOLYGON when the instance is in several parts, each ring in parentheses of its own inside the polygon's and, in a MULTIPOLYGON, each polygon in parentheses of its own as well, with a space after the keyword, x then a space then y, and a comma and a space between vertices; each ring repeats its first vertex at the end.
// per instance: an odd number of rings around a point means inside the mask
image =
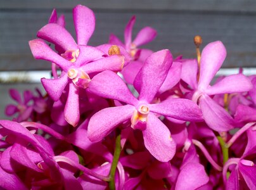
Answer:
POLYGON ((216 131, 234 128, 234 119, 224 108, 217 105, 210 96, 214 94, 246 92, 252 89, 252 83, 243 74, 230 75, 210 86, 211 80, 221 68, 226 58, 226 48, 220 41, 211 42, 202 51, 200 77, 197 82, 197 61, 188 60, 182 65, 181 79, 195 89, 193 101, 198 101, 207 125, 216 131))

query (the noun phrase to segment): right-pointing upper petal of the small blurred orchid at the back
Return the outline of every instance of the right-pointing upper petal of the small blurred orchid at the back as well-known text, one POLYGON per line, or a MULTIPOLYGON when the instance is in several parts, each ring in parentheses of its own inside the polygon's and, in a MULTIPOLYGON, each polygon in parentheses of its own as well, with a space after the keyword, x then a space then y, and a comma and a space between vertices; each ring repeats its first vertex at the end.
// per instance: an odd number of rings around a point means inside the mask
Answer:
POLYGON ((144 27, 139 31, 132 44, 135 44, 136 46, 142 46, 144 44, 148 44, 148 42, 153 41, 156 36, 157 31, 155 29, 151 27, 144 27))

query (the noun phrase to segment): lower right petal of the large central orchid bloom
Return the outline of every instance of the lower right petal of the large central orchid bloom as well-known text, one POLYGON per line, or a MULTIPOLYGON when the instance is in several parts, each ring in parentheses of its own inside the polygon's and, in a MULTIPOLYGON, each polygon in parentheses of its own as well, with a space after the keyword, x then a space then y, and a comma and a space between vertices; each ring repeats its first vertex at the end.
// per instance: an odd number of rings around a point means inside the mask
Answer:
POLYGON ((146 149, 160 162, 168 162, 174 157, 176 143, 169 129, 153 113, 148 115, 143 139, 146 149))

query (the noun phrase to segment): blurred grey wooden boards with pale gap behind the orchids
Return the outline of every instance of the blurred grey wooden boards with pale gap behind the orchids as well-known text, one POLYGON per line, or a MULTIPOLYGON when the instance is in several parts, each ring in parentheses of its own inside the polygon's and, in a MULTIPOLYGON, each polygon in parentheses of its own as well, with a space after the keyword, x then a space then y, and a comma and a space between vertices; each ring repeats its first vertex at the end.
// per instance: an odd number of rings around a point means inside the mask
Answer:
POLYGON ((222 41, 227 58, 221 74, 256 74, 256 1, 253 0, 0 0, 0 118, 11 103, 8 89, 39 87, 41 77, 50 77, 51 64, 34 60, 28 41, 46 23, 53 8, 64 14, 66 28, 75 37, 72 8, 83 4, 93 9, 96 29, 89 45, 108 42, 111 33, 124 39, 124 28, 136 15, 133 36, 150 26, 157 30, 155 41, 146 47, 153 51, 170 49, 174 56, 195 58, 193 37, 201 35, 203 46, 222 41))

